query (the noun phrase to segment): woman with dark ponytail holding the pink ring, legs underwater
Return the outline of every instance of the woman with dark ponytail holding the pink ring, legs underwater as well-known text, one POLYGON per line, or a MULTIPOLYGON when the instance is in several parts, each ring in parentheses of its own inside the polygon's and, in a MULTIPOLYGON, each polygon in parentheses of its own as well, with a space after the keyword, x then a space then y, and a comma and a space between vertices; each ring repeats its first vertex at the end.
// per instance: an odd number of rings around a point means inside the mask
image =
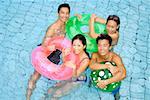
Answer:
MULTIPOLYGON (((64 95, 67 95, 71 90, 80 86, 86 80, 86 76, 83 72, 89 65, 89 56, 86 52, 86 39, 83 35, 78 34, 72 39, 73 51, 78 56, 77 62, 64 61, 64 64, 73 68, 73 78, 67 81, 60 82, 56 86, 51 87, 48 93, 51 95, 51 99, 58 99, 64 95)), ((63 52, 63 55, 66 53, 63 52)))

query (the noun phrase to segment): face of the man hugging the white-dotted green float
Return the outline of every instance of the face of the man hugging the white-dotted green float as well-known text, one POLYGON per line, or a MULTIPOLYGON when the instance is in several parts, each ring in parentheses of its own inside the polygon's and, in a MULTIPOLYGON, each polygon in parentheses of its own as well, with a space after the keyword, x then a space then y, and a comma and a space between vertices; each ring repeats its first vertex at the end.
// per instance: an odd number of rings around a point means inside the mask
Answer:
POLYGON ((104 56, 106 54, 109 53, 109 48, 110 48, 110 45, 109 45, 109 41, 104 39, 104 40, 99 40, 98 41, 98 53, 101 55, 101 56, 104 56))

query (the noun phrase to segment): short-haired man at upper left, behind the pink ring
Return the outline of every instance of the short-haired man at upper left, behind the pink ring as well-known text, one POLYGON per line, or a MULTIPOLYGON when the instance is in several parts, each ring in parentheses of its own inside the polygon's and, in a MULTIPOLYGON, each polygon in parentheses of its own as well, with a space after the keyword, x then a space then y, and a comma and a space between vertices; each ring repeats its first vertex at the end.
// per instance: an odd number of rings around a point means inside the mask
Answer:
MULTIPOLYGON (((48 27, 46 31, 46 35, 43 39, 42 46, 47 46, 47 40, 49 38, 55 37, 55 36, 65 36, 65 23, 68 20, 70 16, 70 6, 69 4, 61 4, 58 7, 58 19, 48 27)), ((51 45, 48 47, 50 51, 55 50, 55 46, 51 45)), ((31 75, 28 83, 27 93, 26 93, 26 100, 30 100, 32 91, 35 88, 36 81, 40 78, 40 73, 38 73, 36 70, 34 70, 34 73, 31 75)))

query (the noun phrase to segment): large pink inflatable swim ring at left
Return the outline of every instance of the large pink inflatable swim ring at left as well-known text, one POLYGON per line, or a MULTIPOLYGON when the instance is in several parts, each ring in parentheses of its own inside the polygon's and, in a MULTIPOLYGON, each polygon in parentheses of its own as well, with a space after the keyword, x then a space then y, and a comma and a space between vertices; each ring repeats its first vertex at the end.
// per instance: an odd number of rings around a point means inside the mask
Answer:
MULTIPOLYGON (((71 41, 64 37, 51 38, 47 41, 47 46, 55 45, 56 49, 62 51, 65 48, 71 48, 70 54, 65 57, 65 61, 72 61, 75 63, 76 56, 72 50, 71 41)), ((31 63, 35 70, 41 75, 52 80, 68 80, 72 77, 72 68, 64 64, 56 65, 47 59, 47 56, 52 53, 46 47, 38 46, 32 51, 31 63)))

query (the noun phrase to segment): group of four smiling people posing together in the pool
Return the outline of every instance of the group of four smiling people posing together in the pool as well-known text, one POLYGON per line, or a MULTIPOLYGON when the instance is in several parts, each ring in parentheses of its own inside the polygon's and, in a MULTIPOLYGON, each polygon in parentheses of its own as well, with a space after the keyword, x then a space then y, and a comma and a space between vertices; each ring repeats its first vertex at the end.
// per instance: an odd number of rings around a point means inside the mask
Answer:
MULTIPOLYGON (((82 15, 76 15, 79 19, 82 15)), ((48 27, 46 35, 43 39, 42 46, 46 46, 45 42, 49 38, 64 36, 65 37, 65 23, 70 17, 70 6, 67 3, 60 4, 58 7, 58 19, 48 27)), ((86 52, 86 39, 83 35, 78 34, 72 39, 73 51, 76 55, 79 55, 78 63, 72 63, 71 61, 64 61, 63 64, 70 66, 73 69, 72 79, 66 81, 60 81, 56 83, 55 86, 52 86, 48 93, 51 94, 51 99, 58 99, 64 95, 67 95, 71 92, 72 89, 78 87, 81 84, 84 84, 86 80, 86 75, 83 74, 84 71, 88 68, 91 70, 98 69, 108 69, 113 77, 107 80, 99 80, 98 87, 105 88, 108 84, 113 82, 118 82, 123 80, 126 77, 126 69, 122 62, 122 59, 119 55, 112 51, 112 47, 117 45, 119 38, 119 27, 120 19, 116 15, 109 15, 107 20, 96 16, 95 14, 91 15, 89 21, 89 35, 92 38, 96 39, 98 52, 92 53, 91 57, 86 52), (100 22, 106 24, 106 34, 96 34, 94 31, 94 23, 100 22), (108 64, 100 64, 102 61, 112 61, 115 62, 117 67, 113 67, 108 64), (80 81, 78 81, 80 80, 80 81)), ((48 47, 50 51, 55 51, 55 45, 48 47)), ((62 56, 66 56, 69 53, 69 49, 62 51, 62 56)), ((63 58, 63 57, 62 57, 63 58)), ((34 70, 34 73, 31 75, 28 88, 26 92, 26 100, 30 100, 31 94, 35 88, 37 80, 41 77, 41 74, 34 70)))

